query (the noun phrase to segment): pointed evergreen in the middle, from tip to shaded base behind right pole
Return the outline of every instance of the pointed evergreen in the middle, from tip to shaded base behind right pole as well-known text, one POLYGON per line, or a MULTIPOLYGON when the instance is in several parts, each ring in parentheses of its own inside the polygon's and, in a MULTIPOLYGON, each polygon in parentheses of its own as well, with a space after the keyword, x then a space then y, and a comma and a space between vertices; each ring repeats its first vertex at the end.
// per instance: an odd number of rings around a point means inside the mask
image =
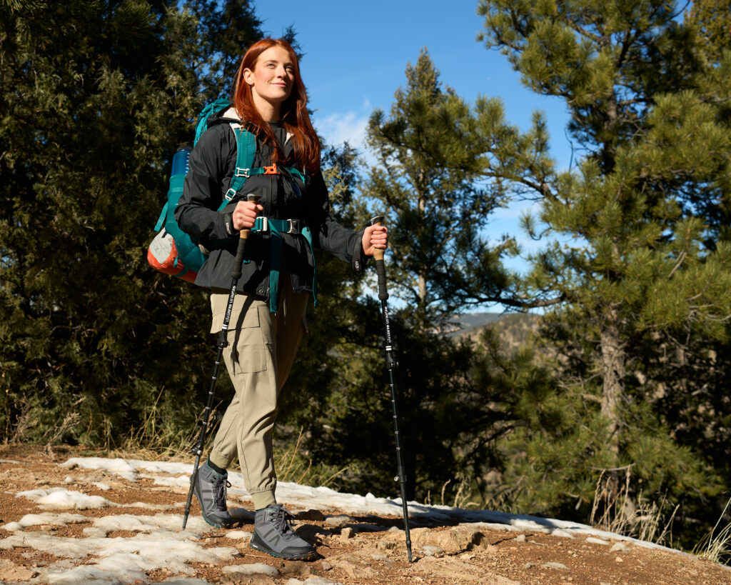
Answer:
MULTIPOLYGON (((423 51, 406 68, 406 86, 395 92, 390 115, 376 110, 371 116, 368 141, 378 163, 355 200, 371 215, 385 211, 388 286, 393 299, 406 302, 392 311, 391 331, 408 496, 438 497, 446 486, 450 503, 470 494, 475 478, 494 463, 494 439, 507 431, 511 416, 506 385, 476 385, 471 344, 442 333, 455 311, 502 295, 510 300, 513 287, 499 261, 512 241, 491 248, 481 234, 504 192, 477 186, 477 151, 455 134, 467 113, 469 106, 442 87, 423 51)), ((338 375, 319 416, 325 432, 309 445, 318 459, 359 470, 349 488, 393 495, 393 420, 379 309, 372 298, 353 305, 338 331, 338 375)))

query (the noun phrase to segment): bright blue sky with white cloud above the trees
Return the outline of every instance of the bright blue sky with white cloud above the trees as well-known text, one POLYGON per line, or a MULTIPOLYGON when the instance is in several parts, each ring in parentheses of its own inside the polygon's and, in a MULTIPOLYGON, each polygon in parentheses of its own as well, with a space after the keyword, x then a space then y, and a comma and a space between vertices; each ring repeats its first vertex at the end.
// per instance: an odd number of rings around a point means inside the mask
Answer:
MULTIPOLYGON (((507 58, 477 42, 482 18, 477 0, 436 2, 260 1, 262 28, 279 37, 294 25, 304 56, 300 62, 313 123, 328 143, 348 140, 363 150, 363 136, 374 108, 390 109, 393 94, 406 81, 405 69, 427 48, 442 83, 474 102, 479 94, 500 97, 507 120, 527 129, 534 110, 548 120, 550 144, 560 166, 568 166, 564 135, 567 110, 560 99, 534 94, 520 83, 507 58)), ((528 203, 515 203, 492 218, 490 234, 515 235, 524 252, 537 244, 520 233, 518 219, 528 203)), ((525 268, 517 262, 516 267, 525 268)))

